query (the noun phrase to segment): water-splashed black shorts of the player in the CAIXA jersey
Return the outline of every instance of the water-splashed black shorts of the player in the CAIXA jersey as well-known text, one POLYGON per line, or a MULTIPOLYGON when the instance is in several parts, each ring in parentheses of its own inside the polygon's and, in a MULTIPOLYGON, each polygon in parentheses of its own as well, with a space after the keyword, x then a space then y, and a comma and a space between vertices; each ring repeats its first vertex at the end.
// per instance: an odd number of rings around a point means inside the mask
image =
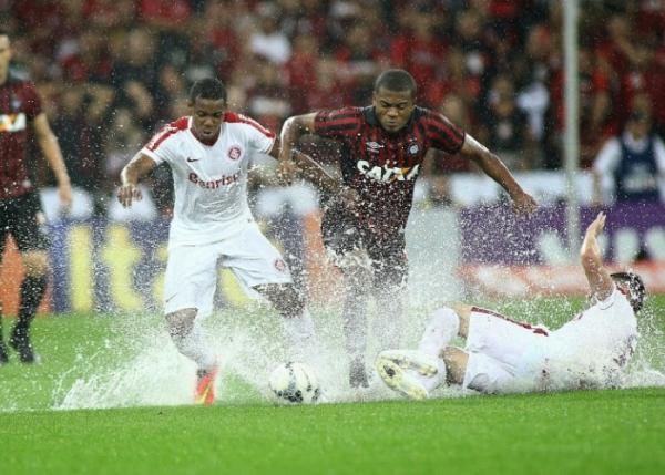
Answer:
POLYGON ((366 257, 375 287, 401 288, 407 283, 409 265, 403 231, 379 237, 348 211, 329 208, 321 218, 321 237, 326 251, 339 267, 344 267, 339 262, 347 256, 366 257))

